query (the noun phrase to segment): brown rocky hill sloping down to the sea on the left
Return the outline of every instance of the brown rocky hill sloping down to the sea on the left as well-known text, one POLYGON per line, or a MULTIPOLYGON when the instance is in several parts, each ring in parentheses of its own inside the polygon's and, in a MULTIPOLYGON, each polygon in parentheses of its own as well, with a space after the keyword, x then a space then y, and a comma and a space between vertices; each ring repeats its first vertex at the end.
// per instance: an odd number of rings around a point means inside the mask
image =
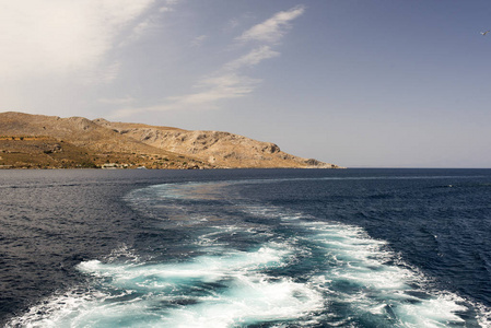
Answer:
POLYGON ((83 117, 0 113, 0 167, 235 168, 337 165, 282 152, 270 142, 83 117), (31 161, 30 161, 31 159, 31 161), (108 164, 113 163, 113 164, 108 164))

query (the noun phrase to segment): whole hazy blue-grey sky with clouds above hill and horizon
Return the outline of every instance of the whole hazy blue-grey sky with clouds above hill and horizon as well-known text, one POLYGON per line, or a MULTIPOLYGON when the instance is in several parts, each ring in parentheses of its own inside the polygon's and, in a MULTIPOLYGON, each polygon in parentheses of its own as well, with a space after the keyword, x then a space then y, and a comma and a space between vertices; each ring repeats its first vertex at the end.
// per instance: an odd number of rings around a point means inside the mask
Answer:
POLYGON ((0 0, 0 112, 491 167, 488 30, 488 0, 0 0))

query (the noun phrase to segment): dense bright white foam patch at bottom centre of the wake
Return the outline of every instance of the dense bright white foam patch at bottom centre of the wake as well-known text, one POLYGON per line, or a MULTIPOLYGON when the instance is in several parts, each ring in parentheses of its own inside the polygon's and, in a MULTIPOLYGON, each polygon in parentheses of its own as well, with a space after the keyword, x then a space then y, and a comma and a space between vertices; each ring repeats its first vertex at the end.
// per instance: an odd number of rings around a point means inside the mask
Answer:
POLYGON ((171 311, 168 327, 236 327, 255 321, 290 320, 323 308, 324 298, 290 279, 239 276, 227 292, 196 306, 171 311))

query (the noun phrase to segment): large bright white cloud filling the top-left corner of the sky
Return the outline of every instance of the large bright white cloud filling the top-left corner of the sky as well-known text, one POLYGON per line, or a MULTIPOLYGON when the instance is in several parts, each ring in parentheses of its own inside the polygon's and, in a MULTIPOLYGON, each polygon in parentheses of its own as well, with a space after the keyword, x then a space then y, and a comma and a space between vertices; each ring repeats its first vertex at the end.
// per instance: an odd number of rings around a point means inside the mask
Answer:
POLYGON ((154 0, 3 1, 0 75, 24 79, 94 69, 154 0))

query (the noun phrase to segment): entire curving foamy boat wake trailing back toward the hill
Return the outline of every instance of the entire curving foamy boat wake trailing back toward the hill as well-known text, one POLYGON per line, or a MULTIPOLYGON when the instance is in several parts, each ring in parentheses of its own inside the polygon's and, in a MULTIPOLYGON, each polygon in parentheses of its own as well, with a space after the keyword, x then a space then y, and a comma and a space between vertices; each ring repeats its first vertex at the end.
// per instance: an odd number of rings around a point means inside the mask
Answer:
MULTIPOLYGON (((129 200, 145 211, 157 209, 154 216, 164 206, 185 222, 192 213, 220 218, 192 225, 187 246, 200 255, 83 261, 78 269, 94 279, 90 289, 47 300, 11 326, 488 327, 486 308, 439 291, 363 229, 244 200, 221 190, 226 187, 137 190, 129 200), (223 198, 243 220, 220 212, 223 198), (247 247, 235 247, 237 238, 247 247)), ((167 221, 175 226, 179 220, 167 221)))

